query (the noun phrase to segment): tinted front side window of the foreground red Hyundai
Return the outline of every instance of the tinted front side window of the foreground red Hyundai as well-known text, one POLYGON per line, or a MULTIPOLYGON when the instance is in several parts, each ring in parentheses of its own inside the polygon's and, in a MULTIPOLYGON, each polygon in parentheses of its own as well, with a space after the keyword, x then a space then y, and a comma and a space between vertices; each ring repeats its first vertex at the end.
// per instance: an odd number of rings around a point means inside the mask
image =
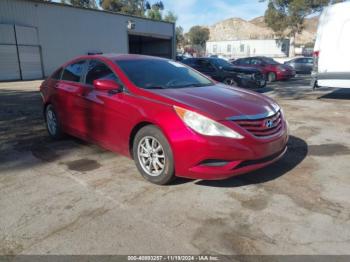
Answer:
POLYGON ((92 85, 96 79, 110 79, 118 81, 118 78, 107 65, 97 60, 91 60, 89 62, 85 82, 86 84, 92 85))

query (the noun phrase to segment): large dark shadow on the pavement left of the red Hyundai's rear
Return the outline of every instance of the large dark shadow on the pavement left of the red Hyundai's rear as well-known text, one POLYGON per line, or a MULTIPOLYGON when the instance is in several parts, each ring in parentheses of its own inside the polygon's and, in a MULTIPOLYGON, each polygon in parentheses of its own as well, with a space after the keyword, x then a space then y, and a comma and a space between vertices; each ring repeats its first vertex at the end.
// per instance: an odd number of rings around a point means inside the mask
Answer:
MULTIPOLYGON (((40 162, 53 162, 62 153, 85 143, 65 137, 52 140, 46 131, 40 93, 23 90, 0 90, 0 166, 30 168, 40 162), (39 161, 25 161, 31 153, 39 161)), ((102 150, 94 147, 95 150, 102 150)))

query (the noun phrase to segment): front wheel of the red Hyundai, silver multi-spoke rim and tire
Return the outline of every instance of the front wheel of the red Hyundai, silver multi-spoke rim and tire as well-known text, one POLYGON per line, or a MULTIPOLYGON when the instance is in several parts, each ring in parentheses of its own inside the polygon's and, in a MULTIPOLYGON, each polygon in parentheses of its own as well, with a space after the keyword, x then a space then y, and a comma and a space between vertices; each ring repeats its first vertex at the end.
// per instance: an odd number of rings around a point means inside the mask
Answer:
POLYGON ((175 178, 171 147, 156 126, 148 125, 138 131, 132 151, 136 167, 146 180, 157 185, 166 185, 175 178))

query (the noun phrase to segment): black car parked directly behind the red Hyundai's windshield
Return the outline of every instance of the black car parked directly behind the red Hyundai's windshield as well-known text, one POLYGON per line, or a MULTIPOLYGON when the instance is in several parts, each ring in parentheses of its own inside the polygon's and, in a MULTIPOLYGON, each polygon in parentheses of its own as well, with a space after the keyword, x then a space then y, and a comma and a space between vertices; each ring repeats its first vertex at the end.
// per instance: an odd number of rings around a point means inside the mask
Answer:
POLYGON ((259 88, 266 86, 266 80, 260 70, 233 66, 221 58, 188 58, 182 63, 230 86, 259 88))

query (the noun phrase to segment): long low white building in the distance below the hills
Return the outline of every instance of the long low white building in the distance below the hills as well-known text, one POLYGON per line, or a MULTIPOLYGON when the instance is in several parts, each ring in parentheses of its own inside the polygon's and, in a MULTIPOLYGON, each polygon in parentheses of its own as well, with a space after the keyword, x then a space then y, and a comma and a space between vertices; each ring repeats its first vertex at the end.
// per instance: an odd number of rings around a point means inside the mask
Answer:
POLYGON ((209 41, 206 51, 211 55, 227 58, 247 56, 288 57, 289 39, 248 39, 232 41, 209 41))

